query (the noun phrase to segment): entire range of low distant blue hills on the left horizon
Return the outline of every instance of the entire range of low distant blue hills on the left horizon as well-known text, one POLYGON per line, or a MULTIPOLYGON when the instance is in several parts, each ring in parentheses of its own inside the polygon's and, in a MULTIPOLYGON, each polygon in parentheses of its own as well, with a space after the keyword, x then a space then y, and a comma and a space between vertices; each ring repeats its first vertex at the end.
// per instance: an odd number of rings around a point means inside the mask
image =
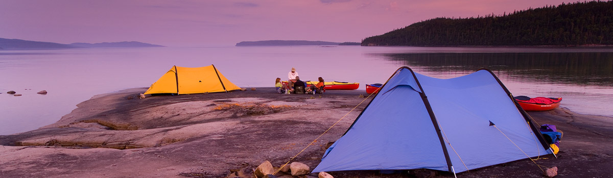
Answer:
POLYGON ((44 41, 28 41, 19 39, 0 38, 0 49, 69 49, 69 48, 141 48, 163 47, 157 44, 141 43, 138 41, 123 41, 113 43, 72 43, 60 44, 44 41))

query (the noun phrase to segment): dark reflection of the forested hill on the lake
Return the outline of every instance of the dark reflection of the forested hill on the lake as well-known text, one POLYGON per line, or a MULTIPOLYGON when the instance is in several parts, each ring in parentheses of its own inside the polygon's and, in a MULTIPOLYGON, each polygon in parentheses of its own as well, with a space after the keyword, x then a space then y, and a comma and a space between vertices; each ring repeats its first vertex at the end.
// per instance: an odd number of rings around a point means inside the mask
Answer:
POLYGON ((370 54, 430 72, 472 73, 481 68, 516 80, 613 86, 613 52, 370 54))

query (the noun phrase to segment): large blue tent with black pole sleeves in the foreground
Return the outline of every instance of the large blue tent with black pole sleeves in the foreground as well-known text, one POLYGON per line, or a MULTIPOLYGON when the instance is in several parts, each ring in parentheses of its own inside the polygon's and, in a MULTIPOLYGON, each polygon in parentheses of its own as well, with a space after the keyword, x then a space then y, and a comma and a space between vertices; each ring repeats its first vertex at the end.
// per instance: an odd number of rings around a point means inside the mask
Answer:
POLYGON ((313 172, 469 169, 551 154, 489 70, 436 79, 399 68, 313 172))

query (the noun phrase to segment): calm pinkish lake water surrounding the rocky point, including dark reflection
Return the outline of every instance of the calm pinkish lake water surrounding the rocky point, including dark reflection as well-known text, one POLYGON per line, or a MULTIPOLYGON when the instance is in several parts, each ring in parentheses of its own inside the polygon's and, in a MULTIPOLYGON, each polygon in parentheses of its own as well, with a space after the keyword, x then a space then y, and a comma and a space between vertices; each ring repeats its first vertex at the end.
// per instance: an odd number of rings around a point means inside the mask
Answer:
POLYGON ((173 65, 214 64, 239 87, 273 87, 292 67, 305 80, 385 82, 409 66, 438 78, 491 69, 514 96, 613 116, 613 48, 274 46, 0 51, 0 135, 55 123, 96 94, 149 87, 173 65), (12 96, 14 90, 23 96, 12 96), (47 90, 48 94, 36 94, 47 90))

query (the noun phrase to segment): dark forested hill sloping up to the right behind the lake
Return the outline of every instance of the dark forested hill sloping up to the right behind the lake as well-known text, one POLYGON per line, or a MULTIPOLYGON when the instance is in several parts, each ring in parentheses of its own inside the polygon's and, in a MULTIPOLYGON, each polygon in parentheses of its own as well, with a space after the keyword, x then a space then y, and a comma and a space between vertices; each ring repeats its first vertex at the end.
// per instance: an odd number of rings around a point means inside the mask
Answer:
POLYGON ((613 1, 576 2, 477 18, 435 18, 362 40, 362 46, 613 44, 613 1))

